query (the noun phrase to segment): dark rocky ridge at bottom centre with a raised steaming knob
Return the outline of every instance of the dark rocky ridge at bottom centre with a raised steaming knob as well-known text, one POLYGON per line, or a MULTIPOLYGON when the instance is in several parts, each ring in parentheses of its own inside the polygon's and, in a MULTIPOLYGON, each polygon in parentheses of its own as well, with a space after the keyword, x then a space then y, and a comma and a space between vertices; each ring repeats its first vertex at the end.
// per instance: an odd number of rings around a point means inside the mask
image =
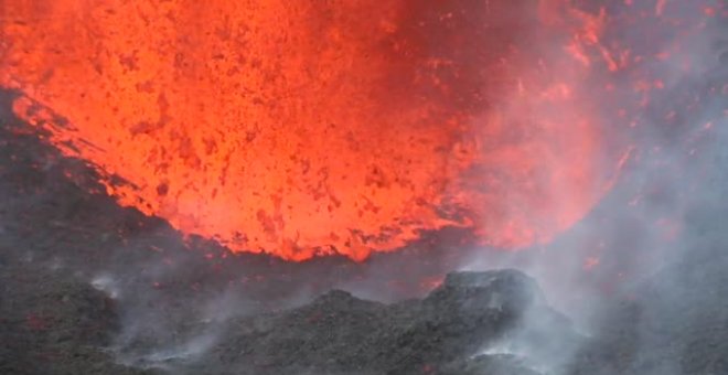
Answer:
POLYGON ((497 357, 464 360, 542 303, 536 282, 515 270, 450 274, 427 298, 392 306, 332 291, 291 311, 236 322, 212 351, 216 360, 203 360, 194 372, 422 374, 458 361, 471 369, 518 368, 497 357))

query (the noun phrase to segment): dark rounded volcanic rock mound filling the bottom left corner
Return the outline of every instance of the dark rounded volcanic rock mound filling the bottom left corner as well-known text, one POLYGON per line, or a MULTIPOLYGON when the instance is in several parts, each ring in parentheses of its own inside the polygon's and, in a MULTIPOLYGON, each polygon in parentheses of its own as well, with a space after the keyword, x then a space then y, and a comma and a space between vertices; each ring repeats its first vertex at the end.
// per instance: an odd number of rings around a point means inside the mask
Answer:
POLYGON ((87 282, 30 265, 0 267, 0 374, 147 374, 103 347, 115 302, 87 282))

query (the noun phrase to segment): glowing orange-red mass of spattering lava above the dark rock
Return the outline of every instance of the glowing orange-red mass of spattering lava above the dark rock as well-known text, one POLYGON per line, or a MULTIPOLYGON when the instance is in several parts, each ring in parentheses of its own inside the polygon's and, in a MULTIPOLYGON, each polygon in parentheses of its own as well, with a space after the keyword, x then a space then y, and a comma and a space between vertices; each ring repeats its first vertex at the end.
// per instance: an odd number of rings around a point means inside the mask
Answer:
POLYGON ((517 248, 623 157, 582 86, 623 65, 603 28, 554 0, 0 0, 0 85, 120 204, 234 251, 517 248))

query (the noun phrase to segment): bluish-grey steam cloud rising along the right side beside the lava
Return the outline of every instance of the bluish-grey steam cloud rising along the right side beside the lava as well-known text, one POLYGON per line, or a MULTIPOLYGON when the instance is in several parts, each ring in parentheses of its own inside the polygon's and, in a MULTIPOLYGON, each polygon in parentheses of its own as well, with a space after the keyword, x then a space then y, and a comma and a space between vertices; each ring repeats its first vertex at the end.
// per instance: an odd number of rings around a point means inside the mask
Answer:
MULTIPOLYGON (((591 3, 599 6, 597 1, 591 3)), ((655 321, 689 324, 681 322, 687 306, 699 310, 720 303, 693 296, 721 282, 715 279, 717 274, 710 267, 699 266, 700 262, 726 265, 725 250, 717 249, 725 247, 719 244, 726 242, 717 223, 728 208, 728 159, 724 146, 728 141, 725 6, 720 1, 602 4, 612 23, 603 35, 604 43, 629 46, 632 56, 645 56, 621 73, 606 72, 587 83, 613 85, 611 95, 592 89, 589 100, 602 105, 606 131, 615 133, 618 142, 634 147, 614 190, 585 219, 550 244, 522 254, 475 253, 462 265, 468 270, 523 269, 539 281, 550 302, 570 315, 589 338, 607 336, 610 330, 617 330, 619 326, 613 323, 618 322, 619 312, 614 307, 630 297, 643 298, 642 313, 653 321, 641 319, 632 329, 639 342, 633 351, 645 358, 622 372, 683 374, 686 369, 681 355, 675 355, 673 362, 650 364, 649 353, 665 345, 665 336, 654 332, 678 330, 657 329, 655 324, 660 323, 655 321), (656 83, 659 89, 635 89, 645 82, 656 83), (714 277, 686 276, 696 272, 695 267, 714 277)), ((536 49, 557 50, 559 45, 536 49)), ((538 314, 528 317, 526 326, 546 324, 538 314)), ((527 339, 517 335, 484 349, 483 353, 521 355, 535 369, 561 374, 568 373, 569 364, 585 350, 574 346, 571 339, 554 332, 554 341, 548 345, 560 350, 549 355, 543 355, 542 347, 533 347, 527 339)))

